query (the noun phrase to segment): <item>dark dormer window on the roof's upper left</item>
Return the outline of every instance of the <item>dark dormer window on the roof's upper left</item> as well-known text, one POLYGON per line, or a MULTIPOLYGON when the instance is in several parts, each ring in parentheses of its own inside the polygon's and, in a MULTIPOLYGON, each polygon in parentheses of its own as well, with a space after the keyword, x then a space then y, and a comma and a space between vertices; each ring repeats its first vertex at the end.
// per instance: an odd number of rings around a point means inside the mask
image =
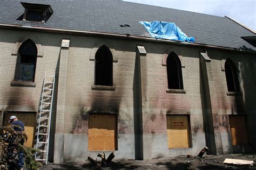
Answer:
POLYGON ((23 21, 45 23, 53 13, 50 5, 21 2, 25 8, 23 21))

